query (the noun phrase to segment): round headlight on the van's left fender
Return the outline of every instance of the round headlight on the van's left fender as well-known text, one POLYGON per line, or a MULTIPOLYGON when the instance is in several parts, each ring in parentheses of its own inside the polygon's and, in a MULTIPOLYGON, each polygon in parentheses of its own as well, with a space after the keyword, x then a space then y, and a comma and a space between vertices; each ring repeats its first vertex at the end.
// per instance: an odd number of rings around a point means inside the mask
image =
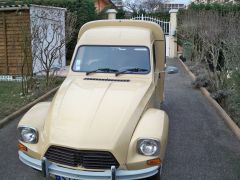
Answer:
POLYGON ((18 127, 18 138, 22 142, 36 144, 38 142, 38 132, 31 127, 20 126, 18 127))

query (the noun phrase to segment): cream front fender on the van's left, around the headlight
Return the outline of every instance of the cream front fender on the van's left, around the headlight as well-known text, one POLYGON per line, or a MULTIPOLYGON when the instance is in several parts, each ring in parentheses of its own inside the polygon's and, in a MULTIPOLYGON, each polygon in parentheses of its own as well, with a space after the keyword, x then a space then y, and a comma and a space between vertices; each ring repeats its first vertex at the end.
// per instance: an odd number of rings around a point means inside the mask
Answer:
POLYGON ((39 140, 37 144, 27 144, 21 142, 23 145, 25 145, 28 148, 28 151, 25 152, 31 157, 40 159, 42 151, 42 144, 44 143, 43 139, 43 125, 45 121, 45 117, 47 116, 48 109, 50 107, 50 102, 42 102, 38 103, 35 106, 33 106, 20 120, 19 126, 29 126, 37 129, 39 133, 39 140))

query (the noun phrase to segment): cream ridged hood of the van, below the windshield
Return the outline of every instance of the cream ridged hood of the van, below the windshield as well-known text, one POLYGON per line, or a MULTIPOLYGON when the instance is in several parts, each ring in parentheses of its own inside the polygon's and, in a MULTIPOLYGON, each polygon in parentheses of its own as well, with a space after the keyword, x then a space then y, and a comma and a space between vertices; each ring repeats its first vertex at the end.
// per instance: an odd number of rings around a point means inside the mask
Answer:
POLYGON ((120 164, 152 94, 150 81, 67 79, 52 101, 44 125, 50 145, 109 151, 120 164))

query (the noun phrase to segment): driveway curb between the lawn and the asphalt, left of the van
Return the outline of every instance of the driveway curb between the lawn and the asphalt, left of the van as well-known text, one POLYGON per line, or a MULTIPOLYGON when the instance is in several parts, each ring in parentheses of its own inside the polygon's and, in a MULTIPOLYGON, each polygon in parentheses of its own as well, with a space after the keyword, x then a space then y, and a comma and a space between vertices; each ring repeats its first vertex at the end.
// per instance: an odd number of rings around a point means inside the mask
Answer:
POLYGON ((49 92, 47 92, 46 94, 42 95, 41 97, 37 98, 36 100, 34 100, 33 102, 27 104, 26 106, 20 108, 19 110, 17 110, 16 112, 10 114, 9 116, 5 117, 4 119, 0 120, 0 129, 6 125, 7 123, 9 123, 11 120, 13 120, 14 118, 16 118, 17 116, 19 116, 20 114, 26 112, 28 109, 30 109, 32 106, 34 106, 35 104, 39 103, 40 101, 47 99, 49 96, 51 96, 53 93, 55 93, 58 88, 60 86, 50 90, 49 92))

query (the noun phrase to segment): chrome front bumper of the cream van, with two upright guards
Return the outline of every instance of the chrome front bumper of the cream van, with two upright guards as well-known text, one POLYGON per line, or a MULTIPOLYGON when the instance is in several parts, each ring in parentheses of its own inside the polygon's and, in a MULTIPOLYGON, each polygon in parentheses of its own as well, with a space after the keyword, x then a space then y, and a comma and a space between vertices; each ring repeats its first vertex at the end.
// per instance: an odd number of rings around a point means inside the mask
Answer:
POLYGON ((103 172, 94 172, 94 171, 82 171, 82 170, 74 170, 68 169, 64 167, 57 166, 46 158, 43 160, 38 160, 31 158, 19 151, 19 159, 26 165, 40 170, 43 172, 44 176, 48 175, 57 175, 70 179, 84 179, 84 180, 97 180, 97 179, 142 179, 146 177, 151 177, 157 174, 160 170, 159 166, 154 166, 141 170, 116 170, 113 166, 111 170, 106 170, 103 172))

